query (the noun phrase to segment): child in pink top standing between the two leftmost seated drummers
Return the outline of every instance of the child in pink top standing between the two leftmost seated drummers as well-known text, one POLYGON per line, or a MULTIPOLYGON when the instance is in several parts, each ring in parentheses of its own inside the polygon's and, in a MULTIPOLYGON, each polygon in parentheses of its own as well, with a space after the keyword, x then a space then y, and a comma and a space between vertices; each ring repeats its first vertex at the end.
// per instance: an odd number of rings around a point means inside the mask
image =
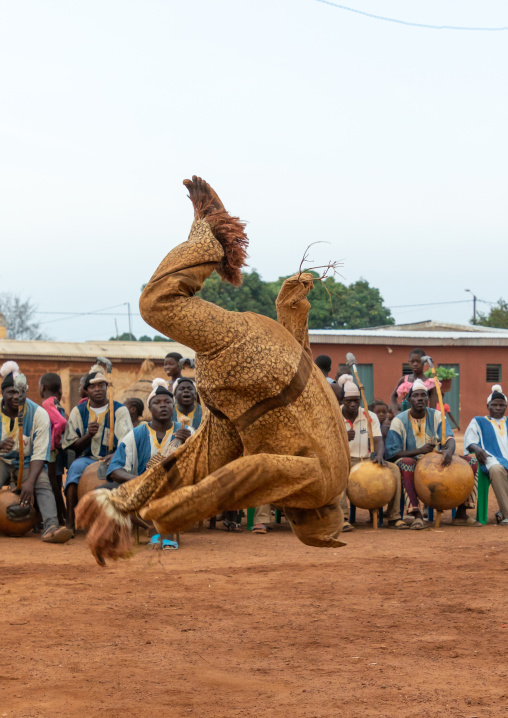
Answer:
POLYGON ((62 434, 67 424, 65 411, 60 404, 62 399, 62 380, 52 372, 44 374, 39 380, 39 394, 42 408, 48 412, 51 422, 51 454, 48 462, 48 476, 55 495, 58 522, 65 523, 66 511, 63 498, 63 475, 66 468, 65 452, 62 449, 62 434))

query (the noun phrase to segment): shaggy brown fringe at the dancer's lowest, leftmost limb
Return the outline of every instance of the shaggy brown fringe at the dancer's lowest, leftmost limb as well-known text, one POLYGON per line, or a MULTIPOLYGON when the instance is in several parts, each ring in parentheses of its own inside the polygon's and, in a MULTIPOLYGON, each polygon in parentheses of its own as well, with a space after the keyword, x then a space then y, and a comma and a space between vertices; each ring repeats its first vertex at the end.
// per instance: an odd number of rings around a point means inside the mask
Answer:
POLYGON ((105 558, 128 558, 132 549, 132 523, 111 501, 111 491, 97 489, 85 494, 76 507, 80 528, 88 528, 87 542, 99 566, 105 558))

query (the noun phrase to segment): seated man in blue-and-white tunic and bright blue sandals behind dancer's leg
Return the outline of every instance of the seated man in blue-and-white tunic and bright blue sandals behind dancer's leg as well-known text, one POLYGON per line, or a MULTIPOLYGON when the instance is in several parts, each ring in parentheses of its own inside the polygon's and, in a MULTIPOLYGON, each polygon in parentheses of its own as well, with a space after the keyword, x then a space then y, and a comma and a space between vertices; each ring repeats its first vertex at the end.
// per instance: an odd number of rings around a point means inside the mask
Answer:
MULTIPOLYGON (((163 380, 155 380, 163 381, 163 380)), ((154 383, 155 383, 154 382, 154 383)), ((189 438, 191 432, 180 423, 173 422, 173 395, 168 383, 156 384, 148 397, 148 408, 152 414, 150 422, 143 422, 122 439, 108 466, 108 484, 113 489, 143 474, 148 462, 164 458, 171 453, 171 444, 179 444, 189 438)), ((173 447, 176 448, 176 445, 173 447)), ((150 544, 157 548, 177 548, 169 535, 160 535, 155 530, 150 544)))

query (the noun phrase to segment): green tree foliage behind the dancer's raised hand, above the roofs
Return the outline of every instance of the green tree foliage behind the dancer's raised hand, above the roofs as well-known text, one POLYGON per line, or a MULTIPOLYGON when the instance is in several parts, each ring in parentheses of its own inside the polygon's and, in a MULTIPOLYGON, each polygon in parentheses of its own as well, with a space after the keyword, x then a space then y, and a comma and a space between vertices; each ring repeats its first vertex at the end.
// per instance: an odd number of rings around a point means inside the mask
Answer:
MULTIPOLYGON (((312 272, 314 276, 318 276, 312 272)), ((276 319, 275 300, 287 277, 264 282, 256 270, 244 272, 241 287, 222 282, 212 274, 204 283, 199 296, 209 302, 237 312, 256 312, 276 319)), ((379 290, 360 279, 349 286, 328 277, 316 281, 309 294, 310 329, 360 329, 393 324, 390 310, 383 306, 379 290)))

